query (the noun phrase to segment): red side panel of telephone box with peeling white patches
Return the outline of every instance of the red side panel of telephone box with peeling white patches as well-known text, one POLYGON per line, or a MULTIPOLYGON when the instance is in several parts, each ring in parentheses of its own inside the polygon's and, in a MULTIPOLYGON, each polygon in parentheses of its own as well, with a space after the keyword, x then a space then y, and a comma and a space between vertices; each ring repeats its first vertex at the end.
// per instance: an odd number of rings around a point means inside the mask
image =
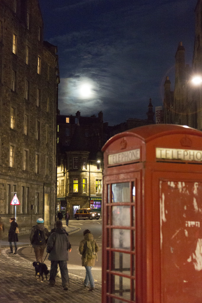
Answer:
POLYGON ((163 303, 202 301, 202 183, 160 181, 163 303))

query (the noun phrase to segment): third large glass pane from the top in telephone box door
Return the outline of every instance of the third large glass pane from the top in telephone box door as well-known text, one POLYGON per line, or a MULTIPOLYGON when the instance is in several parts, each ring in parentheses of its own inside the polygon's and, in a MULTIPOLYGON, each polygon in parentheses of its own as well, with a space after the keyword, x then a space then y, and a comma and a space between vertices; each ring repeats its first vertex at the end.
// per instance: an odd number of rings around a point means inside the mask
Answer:
POLYGON ((112 248, 131 249, 131 231, 127 229, 112 229, 112 248))

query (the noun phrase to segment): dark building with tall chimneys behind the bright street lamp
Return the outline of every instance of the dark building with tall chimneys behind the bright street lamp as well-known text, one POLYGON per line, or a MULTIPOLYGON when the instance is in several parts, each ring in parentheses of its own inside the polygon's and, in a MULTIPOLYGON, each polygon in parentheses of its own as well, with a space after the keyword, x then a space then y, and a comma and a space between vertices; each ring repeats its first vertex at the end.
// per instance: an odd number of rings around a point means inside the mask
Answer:
POLYGON ((179 43, 175 55, 175 86, 167 77, 164 83, 164 123, 187 125, 202 130, 202 85, 193 82, 202 77, 202 0, 195 8, 195 42, 192 67, 185 64, 185 48, 179 43))

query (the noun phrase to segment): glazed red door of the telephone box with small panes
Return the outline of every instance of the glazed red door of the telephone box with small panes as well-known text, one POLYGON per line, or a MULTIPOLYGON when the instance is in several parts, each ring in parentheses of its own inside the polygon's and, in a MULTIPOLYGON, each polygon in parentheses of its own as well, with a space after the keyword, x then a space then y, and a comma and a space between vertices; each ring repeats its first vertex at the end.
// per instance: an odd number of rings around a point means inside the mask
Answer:
MULTIPOLYGON (((104 176, 106 195, 103 218, 106 247, 103 258, 103 292, 110 303, 136 302, 138 289, 136 276, 141 272, 137 268, 137 255, 141 255, 137 245, 140 201, 140 172, 104 176), (122 301, 124 299, 124 301, 122 301), (126 300, 126 301, 125 301, 126 300)), ((141 262, 139 262, 141 264, 141 262)))

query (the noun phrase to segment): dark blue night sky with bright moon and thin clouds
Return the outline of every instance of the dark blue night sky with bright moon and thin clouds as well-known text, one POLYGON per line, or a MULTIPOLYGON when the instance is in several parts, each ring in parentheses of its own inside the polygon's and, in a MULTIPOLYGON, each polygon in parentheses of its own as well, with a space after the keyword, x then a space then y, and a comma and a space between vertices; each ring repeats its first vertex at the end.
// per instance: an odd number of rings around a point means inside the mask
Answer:
POLYGON ((62 115, 96 115, 115 125, 146 119, 149 98, 174 89, 180 41, 192 63, 197 0, 39 0, 44 40, 58 47, 62 115))

